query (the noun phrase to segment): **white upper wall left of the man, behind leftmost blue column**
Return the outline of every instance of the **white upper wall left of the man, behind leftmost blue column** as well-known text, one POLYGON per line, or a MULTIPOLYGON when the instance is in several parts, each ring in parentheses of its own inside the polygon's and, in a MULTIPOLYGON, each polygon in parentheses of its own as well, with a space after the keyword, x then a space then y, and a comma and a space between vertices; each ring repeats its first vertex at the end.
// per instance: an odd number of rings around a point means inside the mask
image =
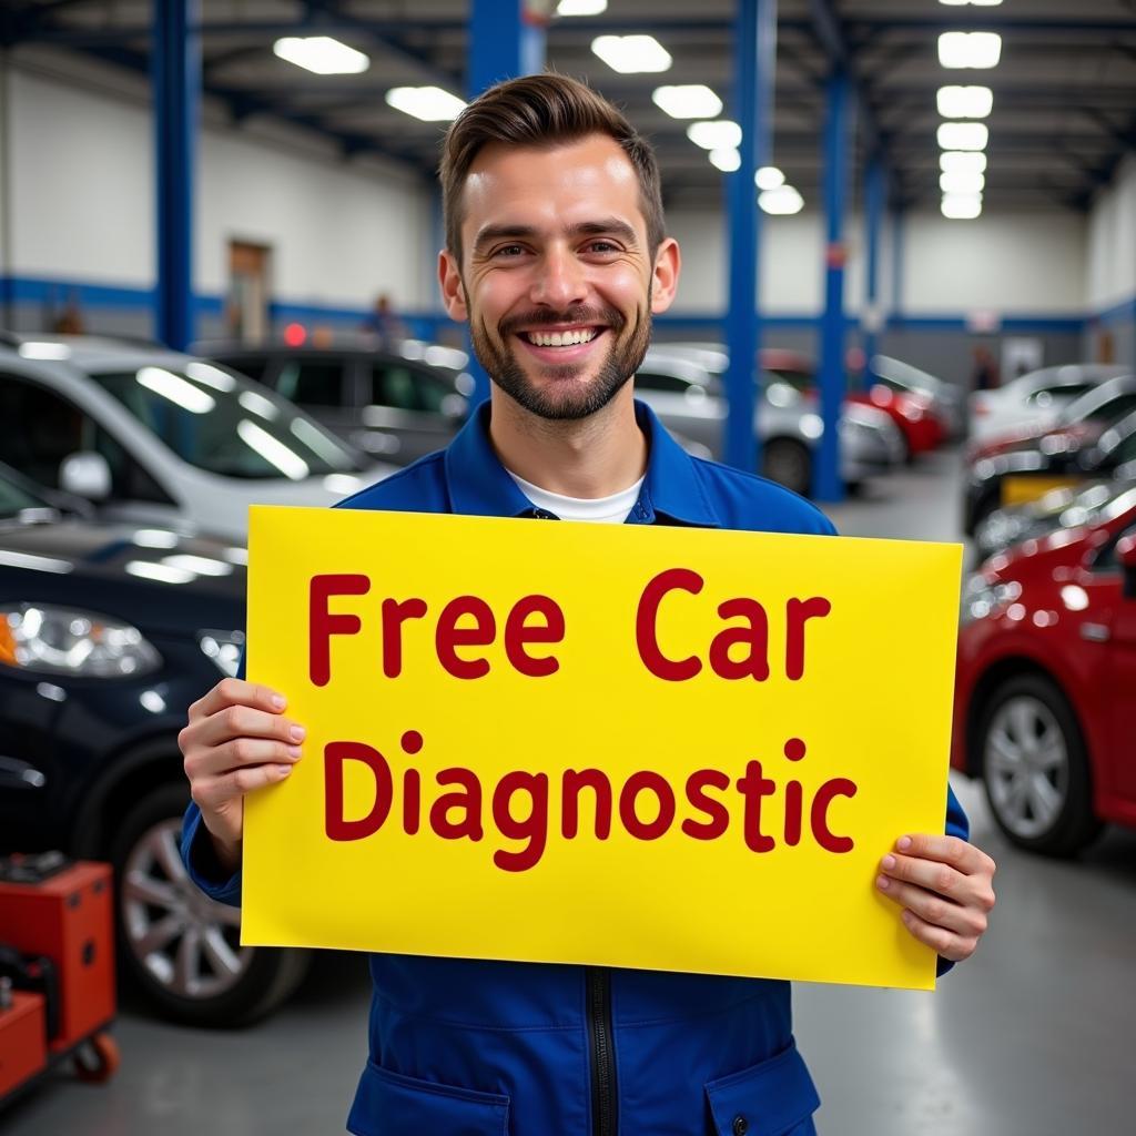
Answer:
MULTIPOLYGON (((9 73, 11 247, 16 276, 148 287, 154 186, 147 105, 9 73)), ((398 168, 245 131, 206 127, 198 152, 194 278, 224 293, 231 239, 273 249, 273 299, 368 307, 389 292, 433 308, 432 202, 398 168)), ((283 135, 283 136, 282 136, 283 135)))

